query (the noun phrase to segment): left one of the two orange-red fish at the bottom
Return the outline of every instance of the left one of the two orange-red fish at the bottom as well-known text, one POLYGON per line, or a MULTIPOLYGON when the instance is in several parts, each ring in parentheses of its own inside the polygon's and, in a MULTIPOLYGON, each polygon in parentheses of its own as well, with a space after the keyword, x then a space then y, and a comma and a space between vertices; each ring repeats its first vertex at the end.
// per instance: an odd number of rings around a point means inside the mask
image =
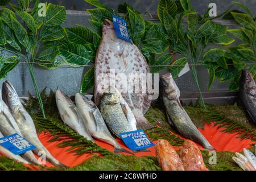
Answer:
POLYGON ((158 140, 155 145, 155 153, 163 171, 184 171, 179 155, 167 140, 158 140))

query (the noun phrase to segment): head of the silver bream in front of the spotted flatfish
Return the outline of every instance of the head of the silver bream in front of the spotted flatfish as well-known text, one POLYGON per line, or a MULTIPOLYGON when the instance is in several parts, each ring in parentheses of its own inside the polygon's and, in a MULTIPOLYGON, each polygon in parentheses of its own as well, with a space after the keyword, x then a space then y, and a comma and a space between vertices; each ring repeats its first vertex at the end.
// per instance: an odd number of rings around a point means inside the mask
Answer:
POLYGON ((117 105, 120 104, 121 98, 119 91, 113 86, 109 86, 102 95, 102 100, 105 101, 108 105, 117 105))

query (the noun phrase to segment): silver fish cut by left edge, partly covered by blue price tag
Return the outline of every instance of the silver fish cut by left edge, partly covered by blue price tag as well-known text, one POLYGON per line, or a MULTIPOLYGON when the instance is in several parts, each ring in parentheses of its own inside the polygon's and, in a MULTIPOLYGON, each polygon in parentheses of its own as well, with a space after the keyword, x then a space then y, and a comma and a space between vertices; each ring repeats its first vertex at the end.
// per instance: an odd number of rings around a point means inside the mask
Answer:
MULTIPOLYGON (((5 137, 9 135, 13 135, 15 133, 18 133, 21 137, 22 134, 18 128, 18 125, 15 122, 15 119, 13 116, 10 114, 10 110, 3 102, 2 96, 1 96, 1 90, 0 90, 0 132, 3 134, 5 137)), ((38 160, 35 158, 35 155, 33 154, 32 151, 27 151, 24 152, 23 154, 20 154, 25 160, 32 164, 40 164, 38 160)))

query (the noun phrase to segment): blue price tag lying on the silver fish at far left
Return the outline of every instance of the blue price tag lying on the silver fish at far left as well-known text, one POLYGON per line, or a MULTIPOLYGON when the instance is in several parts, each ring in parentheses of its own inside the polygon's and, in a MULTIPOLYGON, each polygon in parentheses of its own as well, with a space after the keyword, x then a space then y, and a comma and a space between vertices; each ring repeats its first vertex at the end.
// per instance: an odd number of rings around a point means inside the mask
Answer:
POLYGON ((20 137, 17 133, 0 138, 0 144, 15 155, 20 155, 26 151, 36 148, 33 144, 23 137, 20 137))

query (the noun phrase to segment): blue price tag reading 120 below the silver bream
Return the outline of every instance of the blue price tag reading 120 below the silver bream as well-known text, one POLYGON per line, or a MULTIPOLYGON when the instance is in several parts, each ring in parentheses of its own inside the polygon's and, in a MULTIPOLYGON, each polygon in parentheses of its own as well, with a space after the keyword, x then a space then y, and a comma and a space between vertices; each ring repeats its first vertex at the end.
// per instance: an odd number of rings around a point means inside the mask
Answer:
POLYGON ((147 135, 143 130, 120 133, 119 136, 123 142, 125 142, 126 146, 133 151, 143 150, 145 148, 155 146, 155 144, 147 138, 147 135))

